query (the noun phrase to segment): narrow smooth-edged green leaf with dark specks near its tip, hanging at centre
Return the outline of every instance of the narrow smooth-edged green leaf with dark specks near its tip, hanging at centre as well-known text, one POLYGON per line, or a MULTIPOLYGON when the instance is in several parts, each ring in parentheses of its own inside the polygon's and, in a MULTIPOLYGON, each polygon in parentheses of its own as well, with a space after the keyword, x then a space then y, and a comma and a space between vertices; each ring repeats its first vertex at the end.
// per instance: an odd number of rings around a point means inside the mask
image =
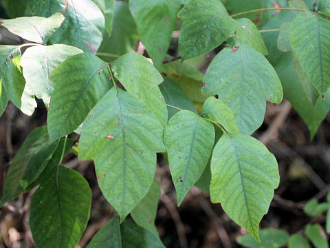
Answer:
POLYGON ((164 143, 179 206, 208 163, 214 143, 214 127, 205 118, 182 110, 168 121, 164 143))

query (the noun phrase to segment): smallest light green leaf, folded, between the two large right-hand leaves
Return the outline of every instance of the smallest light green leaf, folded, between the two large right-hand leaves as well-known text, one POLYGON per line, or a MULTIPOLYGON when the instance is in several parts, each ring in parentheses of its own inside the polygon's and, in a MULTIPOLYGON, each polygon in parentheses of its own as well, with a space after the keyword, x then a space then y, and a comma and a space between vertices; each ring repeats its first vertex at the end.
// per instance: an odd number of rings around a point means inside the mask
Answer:
POLYGON ((201 115, 220 124, 225 130, 232 134, 239 133, 239 128, 234 121, 232 110, 214 96, 209 97, 205 101, 201 115))

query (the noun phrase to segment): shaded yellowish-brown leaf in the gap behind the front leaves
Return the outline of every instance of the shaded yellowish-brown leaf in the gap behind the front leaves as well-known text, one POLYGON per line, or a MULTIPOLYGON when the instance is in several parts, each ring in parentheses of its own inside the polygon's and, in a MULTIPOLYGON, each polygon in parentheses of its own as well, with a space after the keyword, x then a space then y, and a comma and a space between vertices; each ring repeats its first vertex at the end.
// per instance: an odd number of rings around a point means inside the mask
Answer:
POLYGON ((192 66, 174 61, 165 63, 162 72, 168 79, 177 83, 193 102, 203 103, 208 98, 201 94, 204 75, 192 66))

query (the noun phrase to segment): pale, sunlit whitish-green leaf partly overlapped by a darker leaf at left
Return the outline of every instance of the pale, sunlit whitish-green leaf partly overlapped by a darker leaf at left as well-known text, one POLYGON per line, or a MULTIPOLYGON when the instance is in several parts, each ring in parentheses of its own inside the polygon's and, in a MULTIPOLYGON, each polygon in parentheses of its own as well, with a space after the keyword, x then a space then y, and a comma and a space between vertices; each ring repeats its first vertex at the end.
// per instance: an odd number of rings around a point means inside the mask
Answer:
POLYGON ((20 65, 23 76, 32 87, 32 91, 47 106, 54 90, 54 83, 50 80, 53 70, 70 56, 83 51, 69 45, 35 46, 28 48, 22 56, 20 65))

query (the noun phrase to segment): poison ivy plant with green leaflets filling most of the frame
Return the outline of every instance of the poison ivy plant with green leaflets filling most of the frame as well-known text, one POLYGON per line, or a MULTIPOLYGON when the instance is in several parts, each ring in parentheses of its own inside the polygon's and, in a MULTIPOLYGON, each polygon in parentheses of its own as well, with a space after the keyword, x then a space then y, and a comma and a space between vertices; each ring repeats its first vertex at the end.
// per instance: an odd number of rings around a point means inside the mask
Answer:
MULTIPOLYGON (((327 247, 314 224, 305 236, 259 236, 279 173, 250 135, 266 102, 281 103, 283 92, 311 137, 329 112, 328 0, 1 2, 12 18, 3 28, 23 42, 0 45, 0 113, 11 101, 32 115, 35 98, 47 110, 47 126, 11 161, 0 203, 38 187, 30 213, 36 247, 74 248, 89 221, 89 185, 62 165, 72 132, 74 154, 94 161, 95 181, 115 209, 88 247, 164 247, 155 227, 157 153, 168 158, 177 205, 194 185, 209 192, 250 233, 241 245, 310 247, 308 238, 327 247), (197 56, 205 60, 199 68, 190 60, 197 56)), ((311 217, 326 211, 329 232, 329 203, 305 205, 311 217)))

